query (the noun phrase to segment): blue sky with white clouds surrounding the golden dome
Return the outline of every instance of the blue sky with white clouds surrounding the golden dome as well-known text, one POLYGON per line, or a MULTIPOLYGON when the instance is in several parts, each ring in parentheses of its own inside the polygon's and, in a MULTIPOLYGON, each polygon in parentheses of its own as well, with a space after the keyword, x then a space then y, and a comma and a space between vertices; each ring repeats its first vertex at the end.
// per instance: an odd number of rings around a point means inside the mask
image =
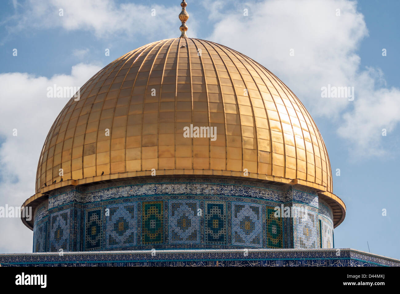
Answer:
MULTIPOLYGON (((253 58, 314 118, 328 150, 333 192, 347 208, 334 230, 335 248, 400 259, 400 2, 187 2, 190 38, 253 58), (354 89, 354 99, 322 97, 328 85, 354 89)), ((180 36, 181 8, 179 0, 1 5, 0 206, 21 206, 34 194, 41 148, 69 100, 48 98, 47 87, 82 86, 123 54, 180 36)), ((0 253, 32 252, 32 235, 19 218, 0 218, 0 253)))

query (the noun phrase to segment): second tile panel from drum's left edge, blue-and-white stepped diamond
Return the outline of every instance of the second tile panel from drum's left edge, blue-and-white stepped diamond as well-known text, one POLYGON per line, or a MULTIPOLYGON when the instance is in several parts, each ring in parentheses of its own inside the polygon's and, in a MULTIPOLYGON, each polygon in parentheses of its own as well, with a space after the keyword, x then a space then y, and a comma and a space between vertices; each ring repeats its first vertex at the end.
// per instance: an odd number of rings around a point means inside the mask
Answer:
POLYGON ((52 214, 50 219, 50 252, 70 250, 70 210, 52 214))

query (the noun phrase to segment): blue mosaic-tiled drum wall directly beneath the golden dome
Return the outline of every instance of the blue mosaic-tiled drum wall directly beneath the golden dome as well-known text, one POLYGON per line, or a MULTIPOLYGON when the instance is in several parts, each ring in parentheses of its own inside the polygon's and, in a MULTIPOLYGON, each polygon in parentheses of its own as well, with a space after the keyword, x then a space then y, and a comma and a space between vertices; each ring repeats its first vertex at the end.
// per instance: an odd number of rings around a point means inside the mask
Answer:
POLYGON ((33 250, 319 248, 316 194, 212 181, 126 182, 54 193, 36 209, 33 250), (308 220, 276 218, 274 208, 282 204, 307 210, 308 220))

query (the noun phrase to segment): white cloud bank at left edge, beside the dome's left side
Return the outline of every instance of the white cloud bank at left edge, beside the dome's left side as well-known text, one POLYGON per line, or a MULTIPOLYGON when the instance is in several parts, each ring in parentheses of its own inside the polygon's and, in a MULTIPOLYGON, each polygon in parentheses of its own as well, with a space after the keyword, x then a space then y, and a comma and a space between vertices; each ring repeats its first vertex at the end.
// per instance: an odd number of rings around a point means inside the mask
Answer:
MULTIPOLYGON (((80 87, 100 69, 77 64, 70 75, 51 78, 0 74, 0 206, 21 206, 35 192, 38 156, 52 122, 69 100, 47 98, 47 87, 80 87), (12 135, 13 129, 17 136, 12 135)), ((28 231, 19 218, 0 218, 0 252, 32 252, 33 238, 32 233, 27 237, 28 231)))

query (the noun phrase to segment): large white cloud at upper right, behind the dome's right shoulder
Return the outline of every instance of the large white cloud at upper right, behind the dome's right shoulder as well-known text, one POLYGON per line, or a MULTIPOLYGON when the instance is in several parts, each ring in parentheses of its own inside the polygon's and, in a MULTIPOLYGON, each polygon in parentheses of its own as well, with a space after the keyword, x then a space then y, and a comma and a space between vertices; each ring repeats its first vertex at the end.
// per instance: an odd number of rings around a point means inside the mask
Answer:
POLYGON ((398 125, 399 89, 385 88, 382 74, 376 75, 379 69, 360 69, 357 50, 368 30, 356 2, 229 1, 224 9, 221 3, 215 5, 224 14, 211 14, 219 21, 210 40, 234 48, 271 70, 304 102, 312 116, 330 118, 338 126, 338 134, 358 154, 384 153, 382 136, 376 134, 385 126, 393 130, 398 125), (244 8, 249 8, 248 16, 243 15, 244 8), (336 16, 337 9, 340 16, 336 16), (294 56, 290 56, 290 49, 294 49, 294 56), (321 87, 328 84, 354 86, 355 100, 321 98, 321 87))

